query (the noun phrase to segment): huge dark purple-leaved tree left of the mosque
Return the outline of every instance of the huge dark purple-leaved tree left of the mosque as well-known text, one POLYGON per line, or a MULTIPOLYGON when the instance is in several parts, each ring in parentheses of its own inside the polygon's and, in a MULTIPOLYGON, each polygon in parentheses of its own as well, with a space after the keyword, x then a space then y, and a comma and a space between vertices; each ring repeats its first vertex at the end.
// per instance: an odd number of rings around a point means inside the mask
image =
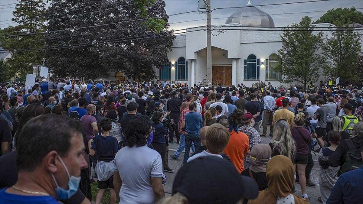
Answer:
POLYGON ((123 0, 89 7, 95 4, 99 1, 52 2, 47 10, 53 14, 48 29, 65 31, 49 32, 47 46, 60 49, 46 50, 46 66, 58 76, 95 77, 122 71, 135 79, 155 78, 153 67, 168 62, 167 52, 174 40, 166 30, 165 3, 123 0), (58 10, 61 8, 65 9, 58 10), (95 12, 98 10, 102 12, 95 12))

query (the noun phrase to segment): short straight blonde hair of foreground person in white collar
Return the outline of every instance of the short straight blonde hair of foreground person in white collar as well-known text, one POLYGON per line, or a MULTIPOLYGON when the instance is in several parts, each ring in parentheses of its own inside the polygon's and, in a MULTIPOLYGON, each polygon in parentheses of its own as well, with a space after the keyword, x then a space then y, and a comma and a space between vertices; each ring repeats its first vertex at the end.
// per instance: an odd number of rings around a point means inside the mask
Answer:
POLYGON ((207 149, 212 154, 221 154, 229 141, 228 130, 219 123, 214 123, 208 127, 207 135, 207 149))

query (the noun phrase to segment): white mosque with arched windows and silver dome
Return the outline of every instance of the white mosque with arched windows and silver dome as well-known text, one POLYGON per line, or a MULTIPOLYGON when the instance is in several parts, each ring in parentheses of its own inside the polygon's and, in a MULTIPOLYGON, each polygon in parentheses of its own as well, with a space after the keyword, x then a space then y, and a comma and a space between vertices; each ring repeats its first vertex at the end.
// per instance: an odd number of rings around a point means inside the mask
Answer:
MULTIPOLYGON (((332 24, 313 25, 318 28, 332 24)), ((247 7, 233 13, 222 28, 229 26, 242 26, 237 29, 244 30, 213 31, 212 83, 222 83, 223 86, 243 83, 250 86, 264 81, 278 87, 282 75, 274 72, 273 67, 277 65, 277 51, 282 46, 282 31, 268 31, 274 29, 266 28, 275 26, 273 18, 248 1, 247 7)), ((186 34, 176 35, 172 51, 167 54, 169 65, 155 68, 160 80, 187 82, 189 85, 206 82, 207 34, 204 30, 189 32, 198 29, 187 28, 186 34)))

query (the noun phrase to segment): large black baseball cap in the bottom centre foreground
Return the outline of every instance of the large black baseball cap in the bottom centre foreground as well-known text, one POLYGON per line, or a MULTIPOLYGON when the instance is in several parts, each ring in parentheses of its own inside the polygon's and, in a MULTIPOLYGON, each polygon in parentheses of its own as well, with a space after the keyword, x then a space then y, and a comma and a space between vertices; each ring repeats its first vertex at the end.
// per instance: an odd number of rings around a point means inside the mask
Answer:
POLYGON ((206 156, 194 159, 180 168, 174 179, 172 193, 183 194, 191 204, 235 204, 241 199, 255 199, 258 190, 256 181, 238 174, 231 162, 206 156), (210 187, 213 187, 213 191, 209 190, 210 187))

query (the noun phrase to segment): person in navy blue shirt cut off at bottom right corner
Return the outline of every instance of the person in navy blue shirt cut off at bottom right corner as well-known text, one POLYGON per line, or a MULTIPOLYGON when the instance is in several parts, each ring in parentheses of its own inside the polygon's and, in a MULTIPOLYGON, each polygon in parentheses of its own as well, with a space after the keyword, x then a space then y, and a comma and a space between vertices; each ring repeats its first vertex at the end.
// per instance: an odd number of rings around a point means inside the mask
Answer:
MULTIPOLYGON (((360 144, 360 154, 363 160, 363 143, 360 144)), ((348 171, 339 176, 327 204, 362 203, 363 201, 363 165, 354 171, 348 171)))

